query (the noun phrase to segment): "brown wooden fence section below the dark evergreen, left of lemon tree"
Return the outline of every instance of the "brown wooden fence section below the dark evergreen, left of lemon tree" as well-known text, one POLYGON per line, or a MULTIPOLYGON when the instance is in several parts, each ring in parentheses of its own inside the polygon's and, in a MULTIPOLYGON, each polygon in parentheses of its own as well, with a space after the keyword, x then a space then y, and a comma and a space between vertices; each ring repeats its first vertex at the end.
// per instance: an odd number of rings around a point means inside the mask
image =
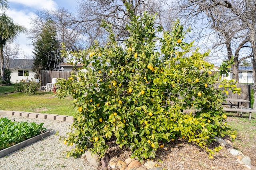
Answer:
POLYGON ((46 71, 42 70, 42 86, 52 82, 52 78, 65 78, 68 79, 71 71, 46 71))

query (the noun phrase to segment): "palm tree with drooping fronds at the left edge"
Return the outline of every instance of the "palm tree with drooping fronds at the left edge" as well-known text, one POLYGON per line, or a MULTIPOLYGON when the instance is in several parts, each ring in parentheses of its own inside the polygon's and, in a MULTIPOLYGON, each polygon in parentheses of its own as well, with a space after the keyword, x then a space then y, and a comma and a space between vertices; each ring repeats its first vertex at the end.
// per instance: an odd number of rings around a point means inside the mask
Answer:
MULTIPOLYGON (((7 0, 0 0, 0 8, 2 10, 8 8, 7 0)), ((8 41, 12 41, 19 33, 25 31, 25 27, 15 24, 12 18, 5 13, 0 13, 0 72, 2 80, 4 80, 4 45, 8 41)))

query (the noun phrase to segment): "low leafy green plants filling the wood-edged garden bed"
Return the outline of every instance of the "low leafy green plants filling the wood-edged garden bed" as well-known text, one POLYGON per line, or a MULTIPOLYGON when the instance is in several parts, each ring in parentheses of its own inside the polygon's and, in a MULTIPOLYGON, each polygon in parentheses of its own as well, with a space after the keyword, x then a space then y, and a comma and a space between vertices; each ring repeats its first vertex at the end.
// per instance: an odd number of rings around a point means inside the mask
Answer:
POLYGON ((39 135, 46 131, 42 127, 44 123, 39 125, 32 122, 16 122, 6 117, 0 118, 0 150, 8 148, 12 145, 25 141, 31 137, 39 135))

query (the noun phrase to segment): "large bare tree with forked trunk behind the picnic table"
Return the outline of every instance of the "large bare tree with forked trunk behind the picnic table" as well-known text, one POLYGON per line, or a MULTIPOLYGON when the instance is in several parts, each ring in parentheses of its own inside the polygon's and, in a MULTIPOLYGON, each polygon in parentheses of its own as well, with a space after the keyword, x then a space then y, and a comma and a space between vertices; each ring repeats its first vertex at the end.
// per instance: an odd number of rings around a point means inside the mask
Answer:
MULTIPOLYGON (((220 0, 222 1, 222 0, 220 0)), ((238 0, 234 0, 240 3, 238 0)), ((219 2, 218 0, 176 0, 172 3, 171 9, 176 10, 175 14, 184 21, 184 24, 191 24, 194 30, 198 30, 200 39, 207 37, 215 38, 215 42, 205 40, 206 46, 212 46, 213 51, 222 52, 222 59, 230 60, 234 57, 232 65, 233 79, 239 81, 238 66, 252 55, 241 55, 242 51, 247 48, 250 51, 248 27, 245 23, 237 20, 237 16, 231 11, 227 1, 219 2), (202 24, 198 24, 202 22, 202 24), (203 31, 205 30, 205 31, 203 31), (212 36, 214 35, 214 36, 212 36), (224 47, 224 48, 223 48, 224 47), (224 50, 222 50, 224 49, 224 50)))

